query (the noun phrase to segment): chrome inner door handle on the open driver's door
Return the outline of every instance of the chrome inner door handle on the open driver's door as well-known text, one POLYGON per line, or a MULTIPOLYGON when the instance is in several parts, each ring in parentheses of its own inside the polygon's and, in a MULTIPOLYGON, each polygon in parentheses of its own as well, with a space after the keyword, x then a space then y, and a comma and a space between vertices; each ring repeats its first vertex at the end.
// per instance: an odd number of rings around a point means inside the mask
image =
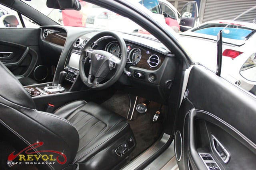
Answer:
POLYGON ((224 163, 228 163, 228 161, 230 160, 230 153, 214 135, 211 135, 211 144, 213 150, 218 154, 221 160, 224 163))

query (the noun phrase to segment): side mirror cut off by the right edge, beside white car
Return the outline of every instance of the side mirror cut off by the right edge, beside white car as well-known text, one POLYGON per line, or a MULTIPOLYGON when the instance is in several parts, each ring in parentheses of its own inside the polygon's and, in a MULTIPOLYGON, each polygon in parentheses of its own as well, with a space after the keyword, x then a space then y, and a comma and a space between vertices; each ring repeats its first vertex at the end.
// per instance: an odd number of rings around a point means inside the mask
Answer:
POLYGON ((250 55, 250 57, 246 60, 240 69, 240 74, 246 80, 256 82, 256 53, 250 55))

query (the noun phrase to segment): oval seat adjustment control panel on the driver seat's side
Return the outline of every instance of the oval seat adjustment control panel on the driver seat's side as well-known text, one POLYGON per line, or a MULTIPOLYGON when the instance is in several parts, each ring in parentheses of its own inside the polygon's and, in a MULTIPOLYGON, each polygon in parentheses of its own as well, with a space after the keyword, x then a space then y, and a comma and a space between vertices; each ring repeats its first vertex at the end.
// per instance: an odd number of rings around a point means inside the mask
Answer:
POLYGON ((134 139, 130 137, 129 139, 126 139, 126 141, 123 141, 120 143, 113 152, 118 156, 123 156, 126 154, 130 149, 132 149, 135 146, 134 139))

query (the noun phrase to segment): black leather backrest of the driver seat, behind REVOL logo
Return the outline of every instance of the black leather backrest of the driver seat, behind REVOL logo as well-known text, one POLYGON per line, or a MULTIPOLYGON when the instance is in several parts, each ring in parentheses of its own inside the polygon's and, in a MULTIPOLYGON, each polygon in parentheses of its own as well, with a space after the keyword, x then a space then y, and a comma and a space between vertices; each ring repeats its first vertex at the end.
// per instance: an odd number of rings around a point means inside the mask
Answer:
MULTIPOLYGON (((31 96, 2 62, 0 74, 1 140, 7 141, 16 149, 14 154, 34 143, 43 142, 42 146, 28 151, 48 155, 48 160, 44 156, 45 161, 36 161, 35 158, 30 161, 44 162, 44 165, 40 164, 39 169, 62 169, 72 163, 79 145, 79 135, 74 125, 57 115, 37 111, 31 96), (42 150, 48 152, 40 152, 42 150), (62 152, 64 154, 60 154, 62 152), (52 160, 49 155, 53 155, 52 160)), ((10 154, 13 151, 10 150, 10 154)), ((20 154, 27 155, 25 151, 20 154)))

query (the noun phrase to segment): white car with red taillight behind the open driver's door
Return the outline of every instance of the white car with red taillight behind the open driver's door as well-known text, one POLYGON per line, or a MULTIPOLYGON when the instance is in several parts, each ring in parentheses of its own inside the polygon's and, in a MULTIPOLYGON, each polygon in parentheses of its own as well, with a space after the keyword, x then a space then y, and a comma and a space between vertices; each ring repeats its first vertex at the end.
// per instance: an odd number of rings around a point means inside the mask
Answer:
MULTIPOLYGON (((241 69, 255 55, 256 24, 242 21, 218 20, 209 21, 180 34, 180 41, 186 45, 186 50, 194 61, 216 70, 216 35, 223 30, 222 74, 230 82, 238 84, 250 91, 256 84, 255 78, 242 76, 241 69), (211 47, 211 48, 209 48, 211 47), (209 49, 211 49, 209 51, 209 49), (249 79, 249 80, 248 80, 249 79), (254 80, 254 81, 250 81, 254 80)), ((255 62, 255 60, 254 60, 255 62)), ((250 75, 254 75, 253 69, 250 75)))

